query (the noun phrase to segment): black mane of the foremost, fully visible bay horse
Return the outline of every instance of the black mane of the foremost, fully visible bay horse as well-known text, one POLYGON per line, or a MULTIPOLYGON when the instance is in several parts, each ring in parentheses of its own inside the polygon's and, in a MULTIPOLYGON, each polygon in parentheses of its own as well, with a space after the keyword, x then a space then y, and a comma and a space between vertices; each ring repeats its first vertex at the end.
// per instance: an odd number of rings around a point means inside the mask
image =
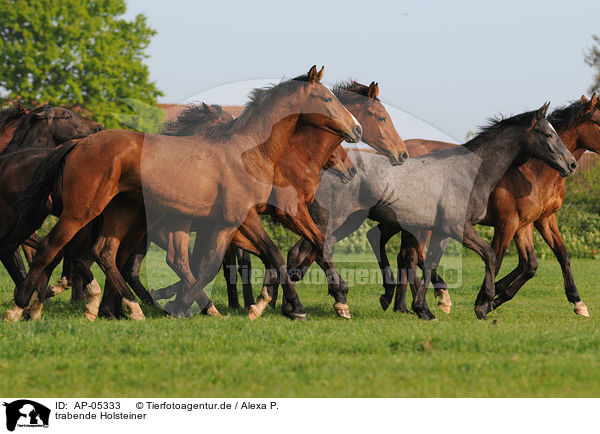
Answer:
POLYGON ((261 113, 267 112, 269 107, 280 98, 296 92, 298 82, 309 81, 308 75, 304 74, 278 84, 253 89, 249 94, 250 101, 246 103, 242 114, 231 122, 207 128, 203 134, 209 139, 226 140, 252 124, 256 116, 261 116, 261 113))

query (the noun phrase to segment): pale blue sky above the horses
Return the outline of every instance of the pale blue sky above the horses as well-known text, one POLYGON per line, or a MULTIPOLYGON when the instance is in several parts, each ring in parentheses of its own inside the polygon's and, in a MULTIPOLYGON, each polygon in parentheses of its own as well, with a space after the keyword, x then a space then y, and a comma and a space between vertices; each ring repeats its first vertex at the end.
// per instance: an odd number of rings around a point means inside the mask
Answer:
POLYGON ((461 141, 494 114, 586 93, 583 53, 600 33, 599 1, 127 4, 158 31, 147 64, 163 102, 318 64, 327 82, 378 81, 384 102, 461 141))

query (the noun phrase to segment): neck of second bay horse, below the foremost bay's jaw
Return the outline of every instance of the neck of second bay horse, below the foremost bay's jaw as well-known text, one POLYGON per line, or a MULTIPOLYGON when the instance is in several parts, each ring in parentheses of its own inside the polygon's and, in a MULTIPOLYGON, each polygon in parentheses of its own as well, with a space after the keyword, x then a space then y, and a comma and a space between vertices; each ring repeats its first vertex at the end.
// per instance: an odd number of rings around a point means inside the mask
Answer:
POLYGON ((301 127, 294 132, 290 148, 318 173, 341 143, 342 139, 335 134, 315 127, 301 127))

